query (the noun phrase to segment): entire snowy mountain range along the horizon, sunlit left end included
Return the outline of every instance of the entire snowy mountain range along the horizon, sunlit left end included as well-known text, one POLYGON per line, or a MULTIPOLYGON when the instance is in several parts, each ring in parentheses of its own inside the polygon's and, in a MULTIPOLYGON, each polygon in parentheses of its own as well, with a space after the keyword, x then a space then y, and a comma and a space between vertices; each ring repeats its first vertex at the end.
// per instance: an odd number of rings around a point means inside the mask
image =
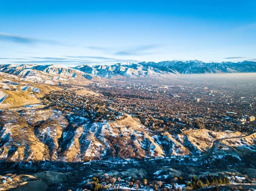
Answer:
POLYGON ((60 65, 0 65, 0 72, 14 74, 38 83, 86 82, 102 78, 122 77, 169 77, 175 74, 215 74, 215 73, 248 73, 256 72, 256 62, 243 61, 238 63, 204 63, 199 60, 163 61, 142 63, 117 63, 106 65, 81 65, 64 67, 60 65))

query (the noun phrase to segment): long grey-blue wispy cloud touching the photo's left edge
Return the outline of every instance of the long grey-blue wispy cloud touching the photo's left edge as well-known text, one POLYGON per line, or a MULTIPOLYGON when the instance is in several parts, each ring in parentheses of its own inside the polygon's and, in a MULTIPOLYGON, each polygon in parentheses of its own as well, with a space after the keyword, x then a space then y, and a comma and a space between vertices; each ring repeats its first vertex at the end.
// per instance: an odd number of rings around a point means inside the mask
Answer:
POLYGON ((51 45, 61 44, 53 40, 41 40, 41 39, 22 37, 18 35, 11 35, 11 34, 5 34, 5 33, 0 33, 0 40, 12 42, 12 43, 19 43, 19 44, 36 44, 36 43, 44 43, 44 44, 51 44, 51 45))

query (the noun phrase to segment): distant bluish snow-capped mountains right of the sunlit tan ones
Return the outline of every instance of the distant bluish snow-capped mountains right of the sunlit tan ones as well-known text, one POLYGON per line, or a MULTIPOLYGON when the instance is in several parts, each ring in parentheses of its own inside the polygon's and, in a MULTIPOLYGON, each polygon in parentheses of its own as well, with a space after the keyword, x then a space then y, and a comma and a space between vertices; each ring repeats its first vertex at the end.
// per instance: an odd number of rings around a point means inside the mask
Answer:
POLYGON ((256 72, 256 62, 204 63, 199 60, 164 61, 159 63, 117 63, 111 66, 77 66, 75 69, 105 78, 116 77, 165 77, 170 74, 211 74, 256 72))

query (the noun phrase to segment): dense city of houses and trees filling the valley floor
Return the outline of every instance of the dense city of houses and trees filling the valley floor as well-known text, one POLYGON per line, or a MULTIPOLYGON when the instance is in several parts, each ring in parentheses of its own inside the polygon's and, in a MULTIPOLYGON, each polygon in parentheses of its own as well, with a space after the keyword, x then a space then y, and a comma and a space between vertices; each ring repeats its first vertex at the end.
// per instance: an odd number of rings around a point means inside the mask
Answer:
MULTIPOLYGON (((124 113, 131 114, 154 131, 179 133, 181 129, 207 128, 250 132, 256 124, 255 92, 248 96, 229 87, 163 86, 144 81, 87 86, 104 97, 78 95, 77 90, 60 87, 64 90, 52 91, 42 100, 63 111, 97 120, 114 120, 122 118, 124 113)), ((251 88, 248 86, 248 91, 251 88)))

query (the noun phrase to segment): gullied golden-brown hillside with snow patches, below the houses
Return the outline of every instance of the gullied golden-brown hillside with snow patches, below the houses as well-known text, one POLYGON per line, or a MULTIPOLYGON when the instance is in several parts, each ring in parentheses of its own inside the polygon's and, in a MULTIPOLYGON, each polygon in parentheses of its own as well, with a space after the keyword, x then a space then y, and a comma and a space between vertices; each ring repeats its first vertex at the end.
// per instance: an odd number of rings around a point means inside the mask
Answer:
MULTIPOLYGON (((130 115, 122 120, 93 123, 57 110, 36 108, 1 111, 0 124, 0 159, 6 161, 84 162, 200 156, 208 153, 214 140, 242 135, 205 129, 159 134, 130 115)), ((255 142, 255 134, 223 140, 218 150, 256 151, 255 142)))

